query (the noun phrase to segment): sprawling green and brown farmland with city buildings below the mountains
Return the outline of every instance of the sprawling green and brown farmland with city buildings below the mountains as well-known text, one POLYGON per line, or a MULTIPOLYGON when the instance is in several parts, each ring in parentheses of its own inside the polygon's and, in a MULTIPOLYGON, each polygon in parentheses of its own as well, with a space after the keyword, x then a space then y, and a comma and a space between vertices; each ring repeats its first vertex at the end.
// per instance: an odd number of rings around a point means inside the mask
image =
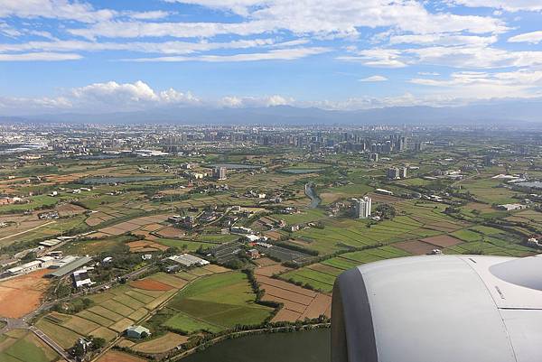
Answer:
POLYGON ((328 328, 356 265, 535 255, 541 135, 0 125, 0 360, 174 361, 328 328))

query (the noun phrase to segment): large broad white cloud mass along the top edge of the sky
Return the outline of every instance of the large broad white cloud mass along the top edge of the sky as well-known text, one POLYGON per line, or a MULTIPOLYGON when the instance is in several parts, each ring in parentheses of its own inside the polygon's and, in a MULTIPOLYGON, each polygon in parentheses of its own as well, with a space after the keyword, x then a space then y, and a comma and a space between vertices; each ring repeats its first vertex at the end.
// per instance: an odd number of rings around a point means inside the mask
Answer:
POLYGON ((227 9, 243 16, 241 23, 145 23, 102 21, 87 28, 69 29, 89 39, 98 37, 213 37, 220 34, 253 35, 287 30, 319 37, 360 35, 360 27, 393 27, 416 34, 441 32, 499 33, 508 30, 491 16, 430 13, 424 5, 409 0, 260 0, 220 2, 180 1, 227 9))

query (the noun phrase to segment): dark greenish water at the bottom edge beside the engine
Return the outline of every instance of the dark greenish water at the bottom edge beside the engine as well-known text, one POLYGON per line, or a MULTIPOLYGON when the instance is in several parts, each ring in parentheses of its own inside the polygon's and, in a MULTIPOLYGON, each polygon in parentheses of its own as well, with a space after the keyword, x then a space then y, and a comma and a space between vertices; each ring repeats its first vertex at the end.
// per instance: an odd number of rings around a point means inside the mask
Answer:
POLYGON ((182 362, 330 362, 331 330, 259 334, 228 339, 182 362))

